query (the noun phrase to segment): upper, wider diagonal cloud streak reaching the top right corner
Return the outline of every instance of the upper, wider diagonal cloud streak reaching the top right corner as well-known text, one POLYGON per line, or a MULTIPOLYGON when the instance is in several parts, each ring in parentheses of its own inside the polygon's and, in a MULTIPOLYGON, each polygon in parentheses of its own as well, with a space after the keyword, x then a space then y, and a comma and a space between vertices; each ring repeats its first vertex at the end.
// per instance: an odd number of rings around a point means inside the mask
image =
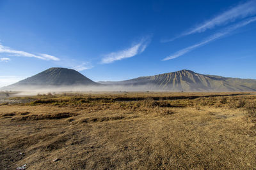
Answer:
POLYGON ((172 39, 164 39, 161 42, 164 43, 168 41, 173 41, 174 39, 180 38, 182 36, 188 36, 189 34, 204 32, 207 29, 213 29, 214 27, 219 25, 226 25, 230 22, 234 22, 239 19, 252 17, 255 14, 256 14, 256 1, 255 0, 247 1, 246 3, 238 4, 237 6, 230 8, 230 10, 227 10, 221 13, 220 15, 217 15, 216 17, 204 22, 203 24, 199 24, 196 27, 193 27, 189 31, 183 32, 182 34, 180 34, 180 36, 177 36, 172 39))

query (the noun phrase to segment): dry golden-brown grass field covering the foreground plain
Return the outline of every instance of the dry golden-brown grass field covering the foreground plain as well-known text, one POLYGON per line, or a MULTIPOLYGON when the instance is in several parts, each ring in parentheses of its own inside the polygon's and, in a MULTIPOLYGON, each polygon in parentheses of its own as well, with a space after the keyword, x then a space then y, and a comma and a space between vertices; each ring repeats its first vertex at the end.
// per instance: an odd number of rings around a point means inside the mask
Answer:
POLYGON ((0 104, 0 169, 256 169, 255 93, 10 100, 24 103, 0 104))

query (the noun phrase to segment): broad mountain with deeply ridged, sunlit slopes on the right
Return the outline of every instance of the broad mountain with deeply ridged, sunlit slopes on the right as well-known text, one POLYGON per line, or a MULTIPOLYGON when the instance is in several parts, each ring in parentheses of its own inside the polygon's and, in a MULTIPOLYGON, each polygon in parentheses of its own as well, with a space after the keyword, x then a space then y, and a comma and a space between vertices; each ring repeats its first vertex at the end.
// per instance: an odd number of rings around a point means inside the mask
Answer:
POLYGON ((227 78, 199 74, 183 69, 172 73, 155 76, 142 76, 125 81, 99 81, 104 85, 122 85, 129 87, 145 87, 145 90, 171 91, 255 91, 256 80, 227 78))

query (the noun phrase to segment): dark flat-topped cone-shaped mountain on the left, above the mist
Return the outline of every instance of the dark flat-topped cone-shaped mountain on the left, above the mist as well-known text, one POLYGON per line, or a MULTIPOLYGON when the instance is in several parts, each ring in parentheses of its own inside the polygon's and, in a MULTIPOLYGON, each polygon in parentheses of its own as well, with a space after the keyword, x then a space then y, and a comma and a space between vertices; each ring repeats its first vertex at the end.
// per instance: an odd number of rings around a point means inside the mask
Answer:
POLYGON ((3 89, 12 89, 16 87, 49 87, 49 86, 73 86, 73 85, 99 85, 86 78, 83 74, 74 69, 61 67, 52 67, 41 73, 21 80, 13 85, 3 89))

